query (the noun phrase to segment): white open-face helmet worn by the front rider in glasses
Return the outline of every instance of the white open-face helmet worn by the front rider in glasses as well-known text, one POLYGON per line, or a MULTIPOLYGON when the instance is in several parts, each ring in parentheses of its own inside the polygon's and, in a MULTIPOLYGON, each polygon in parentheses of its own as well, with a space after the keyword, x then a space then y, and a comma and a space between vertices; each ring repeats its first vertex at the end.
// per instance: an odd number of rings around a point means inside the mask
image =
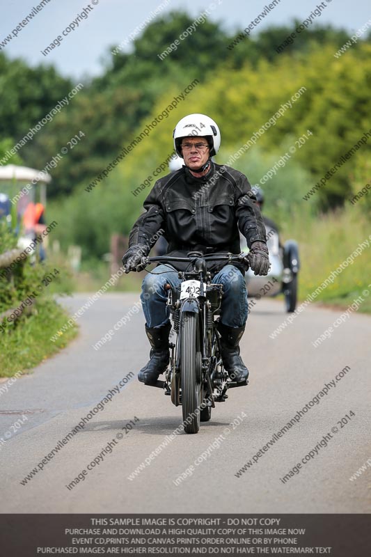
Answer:
POLYGON ((210 157, 219 151, 221 136, 219 127, 210 116, 205 114, 189 114, 184 116, 175 126, 173 132, 174 148, 177 155, 182 157, 180 147, 183 137, 205 137, 210 146, 210 157))

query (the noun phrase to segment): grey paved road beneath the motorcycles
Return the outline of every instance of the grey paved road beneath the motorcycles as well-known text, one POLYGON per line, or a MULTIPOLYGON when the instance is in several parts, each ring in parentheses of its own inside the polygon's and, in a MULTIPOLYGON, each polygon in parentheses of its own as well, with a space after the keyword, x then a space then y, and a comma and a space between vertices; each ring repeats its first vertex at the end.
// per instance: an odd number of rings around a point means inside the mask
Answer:
MULTIPOLYGON (((64 303, 77 311, 86 298, 75 295, 64 303)), ((143 386, 134 377, 21 485, 120 379, 136 374, 145 363, 148 345, 141 312, 132 311, 131 320, 100 350, 92 347, 137 300, 136 295, 110 294, 96 301, 79 320, 77 340, 0 395, 0 437, 23 421, 0 446, 1 512, 370 512, 371 468, 356 480, 349 477, 371 457, 371 319, 352 313, 315 348, 312 341, 341 312, 310 306, 271 339, 269 333, 285 313, 282 301, 269 299, 253 308, 242 343, 250 385, 230 391, 228 401, 216 406, 212 421, 197 435, 177 434, 161 448, 166 435, 180 425, 181 409, 160 389, 143 386), (319 404, 308 407, 299 423, 273 441, 344 369, 319 404), (355 416, 342 427, 338 421, 350 411, 355 416), (237 416, 241 423, 233 429, 229 425, 237 416), (135 426, 125 433, 122 427, 131 420, 135 426), (329 444, 319 445, 314 457, 283 483, 280 478, 332 427, 338 431, 329 444), (264 446, 268 448, 253 462, 264 446), (150 465, 127 479, 157 448, 150 465), (99 465, 81 473, 95 458, 99 465), (237 478, 248 460, 253 464, 237 478), (175 485, 173 480, 186 469, 190 475, 175 485), (79 483, 65 487, 79 473, 79 483)))

